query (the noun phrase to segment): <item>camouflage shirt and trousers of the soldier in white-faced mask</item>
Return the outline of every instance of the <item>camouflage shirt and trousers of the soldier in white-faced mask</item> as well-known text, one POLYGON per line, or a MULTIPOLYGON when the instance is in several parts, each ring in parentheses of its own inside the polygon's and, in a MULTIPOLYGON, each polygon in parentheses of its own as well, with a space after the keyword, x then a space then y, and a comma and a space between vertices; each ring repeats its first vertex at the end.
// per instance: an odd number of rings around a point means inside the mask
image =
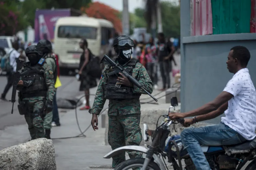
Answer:
MULTIPOLYGON (((127 62, 128 63, 128 62, 127 62)), ((127 68, 127 63, 123 68, 127 68)), ((108 65, 105 67, 102 78, 100 79, 91 114, 99 115, 103 109, 106 98, 104 97, 104 85, 107 82, 106 73, 110 72, 108 65)), ((145 89, 152 93, 153 83, 141 63, 136 63, 132 76, 145 85, 145 89)), ((144 91, 134 85, 133 91, 146 94, 144 91)), ((114 150, 125 145, 139 145, 142 141, 140 128, 140 100, 124 99, 122 101, 109 99, 108 105, 108 143, 114 150)), ((127 152, 130 158, 142 157, 140 152, 127 152)), ((125 152, 113 157, 112 167, 125 161, 125 152)))

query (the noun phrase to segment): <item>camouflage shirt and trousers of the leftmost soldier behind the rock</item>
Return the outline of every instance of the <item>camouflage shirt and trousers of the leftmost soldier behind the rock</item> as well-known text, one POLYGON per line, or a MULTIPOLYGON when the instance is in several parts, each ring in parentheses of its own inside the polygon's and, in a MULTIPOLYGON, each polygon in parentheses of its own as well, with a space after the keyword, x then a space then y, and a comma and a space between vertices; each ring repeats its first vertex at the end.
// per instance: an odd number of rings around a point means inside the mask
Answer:
MULTIPOLYGON (((44 138, 45 129, 43 126, 43 112, 45 109, 46 101, 53 101, 53 96, 55 94, 54 88, 54 77, 53 71, 49 65, 46 63, 43 64, 44 68, 44 79, 47 86, 47 97, 29 97, 22 98, 22 102, 25 104, 25 119, 28 124, 28 129, 30 136, 33 139, 44 138)), ((23 68, 24 69, 24 68, 23 68)), ((21 70, 21 73, 23 72, 21 70)), ((18 87, 18 90, 22 91, 22 86, 18 87)), ((19 104, 21 97, 19 96, 19 104)))

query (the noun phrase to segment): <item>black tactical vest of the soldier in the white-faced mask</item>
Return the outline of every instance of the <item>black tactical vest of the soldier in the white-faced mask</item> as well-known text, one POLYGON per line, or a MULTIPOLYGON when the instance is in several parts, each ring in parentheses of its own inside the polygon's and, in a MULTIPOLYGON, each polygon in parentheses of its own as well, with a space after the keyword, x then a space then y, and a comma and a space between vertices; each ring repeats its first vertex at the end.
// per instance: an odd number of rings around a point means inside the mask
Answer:
MULTIPOLYGON (((130 75, 132 75, 132 71, 139 60, 132 58, 131 61, 127 64, 127 68, 125 69, 130 75)), ((107 76, 107 82, 104 86, 104 97, 107 99, 134 99, 140 98, 141 93, 133 93, 133 87, 128 87, 125 85, 121 85, 119 88, 116 87, 117 75, 107 76)))

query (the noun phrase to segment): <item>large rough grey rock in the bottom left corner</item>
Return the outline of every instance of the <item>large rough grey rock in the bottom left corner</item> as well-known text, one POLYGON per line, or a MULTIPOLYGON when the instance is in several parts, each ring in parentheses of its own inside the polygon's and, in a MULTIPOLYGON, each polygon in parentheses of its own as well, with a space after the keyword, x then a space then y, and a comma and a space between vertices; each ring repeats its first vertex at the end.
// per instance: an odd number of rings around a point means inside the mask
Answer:
POLYGON ((0 150, 1 170, 56 170, 53 141, 45 138, 0 150))

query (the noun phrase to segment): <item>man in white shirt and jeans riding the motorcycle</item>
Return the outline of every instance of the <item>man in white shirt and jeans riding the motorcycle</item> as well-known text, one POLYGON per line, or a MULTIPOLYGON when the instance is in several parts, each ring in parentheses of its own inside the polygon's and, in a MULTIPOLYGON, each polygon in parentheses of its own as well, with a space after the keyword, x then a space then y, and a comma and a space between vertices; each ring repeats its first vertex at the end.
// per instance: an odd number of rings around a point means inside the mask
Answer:
POLYGON ((184 148, 187 149, 197 170, 210 170, 200 145, 239 144, 256 137, 256 92, 249 70, 246 68, 250 52, 246 47, 231 48, 227 57, 227 69, 234 76, 224 90, 211 102, 186 113, 170 113, 172 120, 185 119, 184 126, 213 119, 223 112, 225 117, 217 125, 188 128, 181 133, 184 148), (199 115, 199 116, 198 116, 199 115))

